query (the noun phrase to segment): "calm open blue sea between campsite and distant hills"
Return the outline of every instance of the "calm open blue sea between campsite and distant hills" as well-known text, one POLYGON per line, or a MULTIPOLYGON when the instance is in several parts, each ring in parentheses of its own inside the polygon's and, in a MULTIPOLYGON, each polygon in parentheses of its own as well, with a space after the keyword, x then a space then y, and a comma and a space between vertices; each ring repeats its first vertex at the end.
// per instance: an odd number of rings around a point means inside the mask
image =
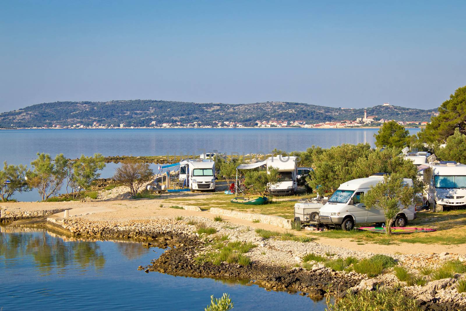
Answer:
MULTIPOLYGON (((274 148, 303 151, 368 142, 374 146, 377 128, 171 128, 171 129, 25 129, 0 130, 0 161, 27 164, 38 152, 68 158, 103 155, 199 155, 204 151, 268 153, 274 148)), ((419 129, 410 129, 415 134, 419 129)), ((113 176, 114 163, 107 164, 101 177, 113 176)), ((154 167, 155 168, 155 167, 154 167)), ((38 200, 35 191, 15 195, 21 201, 38 200)))

